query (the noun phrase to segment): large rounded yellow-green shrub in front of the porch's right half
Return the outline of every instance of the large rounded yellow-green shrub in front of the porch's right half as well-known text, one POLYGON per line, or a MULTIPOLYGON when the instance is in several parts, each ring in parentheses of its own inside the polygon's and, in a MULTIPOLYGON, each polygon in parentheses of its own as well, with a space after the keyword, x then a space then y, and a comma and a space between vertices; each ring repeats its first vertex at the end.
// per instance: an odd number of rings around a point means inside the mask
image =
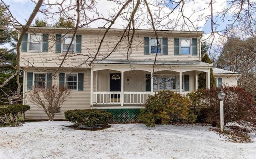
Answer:
POLYGON ((196 116, 190 110, 190 100, 170 90, 149 96, 145 109, 140 110, 139 121, 148 127, 155 124, 193 123, 196 116))

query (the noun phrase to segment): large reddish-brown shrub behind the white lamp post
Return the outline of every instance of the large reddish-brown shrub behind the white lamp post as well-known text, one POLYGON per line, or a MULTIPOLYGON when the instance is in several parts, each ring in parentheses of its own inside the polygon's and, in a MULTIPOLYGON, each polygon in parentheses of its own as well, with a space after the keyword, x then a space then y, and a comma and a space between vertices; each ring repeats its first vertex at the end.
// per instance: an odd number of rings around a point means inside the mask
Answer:
POLYGON ((189 98, 195 102, 192 106, 195 108, 206 108, 200 111, 205 114, 197 114, 205 116, 205 123, 212 126, 220 126, 220 105, 217 94, 222 90, 226 96, 224 98, 224 125, 230 122, 236 122, 241 126, 256 126, 256 107, 250 94, 237 86, 223 86, 209 89, 197 90, 190 93, 189 98), (200 97, 200 98, 198 98, 200 97))

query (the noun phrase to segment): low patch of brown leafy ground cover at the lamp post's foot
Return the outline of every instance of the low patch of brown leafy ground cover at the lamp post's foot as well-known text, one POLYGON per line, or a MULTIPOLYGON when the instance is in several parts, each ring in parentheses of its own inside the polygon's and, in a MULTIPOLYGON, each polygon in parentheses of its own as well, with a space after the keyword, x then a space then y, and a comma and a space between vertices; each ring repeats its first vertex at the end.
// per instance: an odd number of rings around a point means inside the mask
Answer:
POLYGON ((219 135, 223 135, 227 139, 235 143, 251 143, 252 139, 247 134, 248 130, 240 128, 238 126, 227 126, 230 130, 224 130, 221 132, 219 129, 210 129, 216 131, 219 135))

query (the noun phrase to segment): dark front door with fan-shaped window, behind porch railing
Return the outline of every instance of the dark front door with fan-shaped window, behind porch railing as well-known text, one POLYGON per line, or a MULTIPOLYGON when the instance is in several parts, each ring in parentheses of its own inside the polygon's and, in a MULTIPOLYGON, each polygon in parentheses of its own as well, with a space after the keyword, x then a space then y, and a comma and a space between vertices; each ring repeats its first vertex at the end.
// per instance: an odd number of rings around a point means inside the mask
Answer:
MULTIPOLYGON (((121 74, 115 73, 110 74, 110 92, 120 92, 121 91, 121 74)), ((111 98, 120 98, 120 94, 111 94, 111 98)))

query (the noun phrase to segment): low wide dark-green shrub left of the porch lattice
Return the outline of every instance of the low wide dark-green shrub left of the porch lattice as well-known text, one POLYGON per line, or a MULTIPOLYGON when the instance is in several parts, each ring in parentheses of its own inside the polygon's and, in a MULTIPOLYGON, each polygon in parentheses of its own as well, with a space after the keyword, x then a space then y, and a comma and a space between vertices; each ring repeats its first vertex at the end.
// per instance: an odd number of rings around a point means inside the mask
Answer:
POLYGON ((68 110, 64 114, 66 120, 85 126, 108 124, 112 118, 112 113, 100 109, 68 110))

